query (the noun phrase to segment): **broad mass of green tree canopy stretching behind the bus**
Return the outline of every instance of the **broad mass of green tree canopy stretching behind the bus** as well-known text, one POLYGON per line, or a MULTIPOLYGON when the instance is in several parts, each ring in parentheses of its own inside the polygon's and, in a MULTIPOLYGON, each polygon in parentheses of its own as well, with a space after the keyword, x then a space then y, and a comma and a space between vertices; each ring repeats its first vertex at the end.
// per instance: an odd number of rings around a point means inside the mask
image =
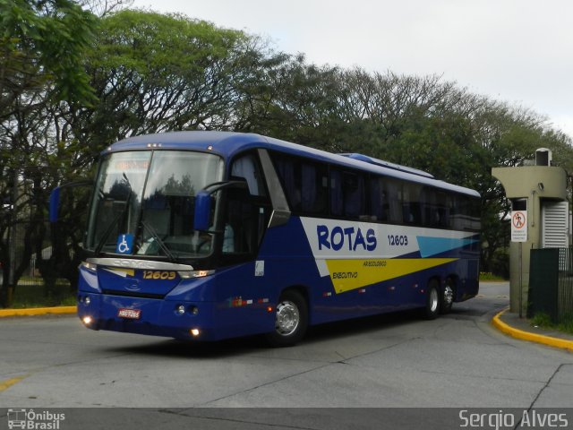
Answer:
MULTIPOLYGON (((13 280, 47 244, 49 190, 90 178, 98 153, 133 134, 261 133, 362 152, 474 188, 488 271, 509 234, 500 221, 508 204, 491 168, 517 166, 539 147, 573 168, 571 139, 546 118, 440 76, 310 64, 244 31, 122 4, 0 0, 0 196, 13 204, 0 216, 0 262, 13 268, 13 280), (30 226, 18 264, 5 239, 14 226, 30 226)), ((85 207, 83 199, 75 204, 85 207)), ((40 265, 46 279, 75 277, 79 212, 64 214, 51 260, 40 265)))

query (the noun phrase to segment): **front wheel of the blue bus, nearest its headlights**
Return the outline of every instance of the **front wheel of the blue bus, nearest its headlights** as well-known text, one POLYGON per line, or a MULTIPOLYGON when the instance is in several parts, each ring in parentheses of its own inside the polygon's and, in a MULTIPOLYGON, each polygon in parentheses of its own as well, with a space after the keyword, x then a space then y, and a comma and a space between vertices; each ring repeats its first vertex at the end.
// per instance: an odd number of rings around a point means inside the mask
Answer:
POLYGON ((287 289, 278 299, 275 330, 266 338, 272 347, 290 347, 303 339, 308 326, 308 305, 294 289, 287 289))

